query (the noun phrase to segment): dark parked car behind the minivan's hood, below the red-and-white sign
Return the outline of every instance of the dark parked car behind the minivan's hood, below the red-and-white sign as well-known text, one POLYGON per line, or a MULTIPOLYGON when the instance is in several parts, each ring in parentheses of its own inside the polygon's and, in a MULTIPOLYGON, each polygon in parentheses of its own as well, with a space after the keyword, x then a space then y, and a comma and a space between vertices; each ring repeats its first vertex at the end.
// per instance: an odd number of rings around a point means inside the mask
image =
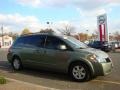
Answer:
POLYGON ((96 49, 101 49, 103 51, 109 52, 112 50, 112 46, 107 41, 93 41, 88 44, 88 46, 96 49))

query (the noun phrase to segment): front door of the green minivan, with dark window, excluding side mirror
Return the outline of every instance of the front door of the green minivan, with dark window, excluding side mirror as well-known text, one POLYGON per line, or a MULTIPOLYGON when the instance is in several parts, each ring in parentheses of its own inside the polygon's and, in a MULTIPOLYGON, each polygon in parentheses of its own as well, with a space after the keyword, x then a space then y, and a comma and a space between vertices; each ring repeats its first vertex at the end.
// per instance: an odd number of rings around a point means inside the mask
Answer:
POLYGON ((69 50, 60 50, 58 47, 60 45, 67 45, 57 37, 47 36, 45 44, 45 54, 43 63, 47 68, 52 69, 63 69, 67 66, 69 59, 69 50))

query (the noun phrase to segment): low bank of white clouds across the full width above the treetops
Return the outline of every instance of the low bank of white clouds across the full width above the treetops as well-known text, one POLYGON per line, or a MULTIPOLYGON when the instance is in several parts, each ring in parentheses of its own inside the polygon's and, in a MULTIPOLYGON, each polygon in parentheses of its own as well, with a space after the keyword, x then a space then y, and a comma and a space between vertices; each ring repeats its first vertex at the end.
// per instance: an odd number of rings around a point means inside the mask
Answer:
MULTIPOLYGON (((63 27, 65 24, 74 26, 76 32, 86 33, 86 30, 89 30, 89 33, 93 33, 97 29, 96 17, 91 17, 89 20, 87 17, 84 17, 84 19, 81 19, 80 21, 56 21, 51 23, 50 27, 57 31, 58 28, 63 27)), ((30 29, 31 32, 38 32, 41 28, 48 27, 46 24, 42 24, 35 16, 22 16, 20 14, 0 14, 0 26, 1 25, 4 26, 4 32, 12 31, 19 33, 21 33, 24 28, 30 29)), ((108 21, 108 29, 110 32, 119 30, 120 21, 108 21)))

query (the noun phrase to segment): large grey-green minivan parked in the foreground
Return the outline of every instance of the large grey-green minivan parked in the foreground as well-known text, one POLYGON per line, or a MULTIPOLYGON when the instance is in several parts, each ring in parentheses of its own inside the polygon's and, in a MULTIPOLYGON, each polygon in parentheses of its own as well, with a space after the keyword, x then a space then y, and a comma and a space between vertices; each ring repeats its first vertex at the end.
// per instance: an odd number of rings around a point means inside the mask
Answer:
POLYGON ((81 82, 107 75, 113 67, 107 53, 89 48, 73 37, 47 33, 18 37, 7 58, 15 70, 31 67, 59 71, 81 82))

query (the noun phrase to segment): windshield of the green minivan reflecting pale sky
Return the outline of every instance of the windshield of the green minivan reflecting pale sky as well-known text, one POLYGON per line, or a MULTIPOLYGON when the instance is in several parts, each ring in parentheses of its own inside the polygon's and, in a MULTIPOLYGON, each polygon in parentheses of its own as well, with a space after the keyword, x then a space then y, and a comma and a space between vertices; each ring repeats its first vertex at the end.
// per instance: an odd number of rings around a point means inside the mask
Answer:
POLYGON ((88 46, 86 44, 84 44, 83 42, 80 42, 79 40, 73 38, 73 37, 66 37, 64 38, 66 39, 66 41, 73 47, 73 48, 79 48, 79 49, 84 49, 84 48, 88 48, 88 46))

